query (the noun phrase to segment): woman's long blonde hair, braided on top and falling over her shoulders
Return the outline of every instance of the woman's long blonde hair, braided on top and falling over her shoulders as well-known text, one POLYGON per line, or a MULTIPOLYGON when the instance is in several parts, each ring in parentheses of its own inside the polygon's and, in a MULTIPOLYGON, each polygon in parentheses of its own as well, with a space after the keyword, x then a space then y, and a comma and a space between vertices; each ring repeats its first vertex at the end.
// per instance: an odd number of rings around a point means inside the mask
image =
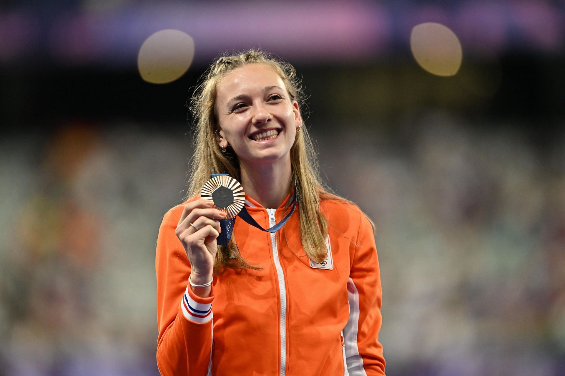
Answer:
MULTIPOLYGON (((302 108, 304 99, 302 83, 292 65, 254 49, 216 59, 199 79, 190 101, 195 151, 190 160, 191 177, 185 200, 199 196, 203 185, 210 179, 210 174, 229 174, 241 182, 240 166, 233 149, 228 146, 223 153, 216 144, 218 119, 215 114, 215 101, 218 81, 231 70, 246 64, 265 64, 271 67, 284 82, 290 98, 296 100, 299 108, 302 108)), ((298 200, 302 246, 311 260, 321 262, 327 256, 325 239, 328 234, 328 220, 320 213, 320 201, 341 200, 355 204, 332 193, 320 181, 314 144, 305 126, 302 126, 301 131, 296 135, 294 145, 290 149, 290 161, 292 183, 296 188, 295 194, 298 200)), ((374 228, 374 223, 371 219, 369 221, 374 228)), ((285 231, 284 227, 282 229, 285 231)), ((247 263, 241 256, 233 236, 227 246, 218 246, 216 253, 214 272, 221 273, 225 268, 259 269, 247 263)))

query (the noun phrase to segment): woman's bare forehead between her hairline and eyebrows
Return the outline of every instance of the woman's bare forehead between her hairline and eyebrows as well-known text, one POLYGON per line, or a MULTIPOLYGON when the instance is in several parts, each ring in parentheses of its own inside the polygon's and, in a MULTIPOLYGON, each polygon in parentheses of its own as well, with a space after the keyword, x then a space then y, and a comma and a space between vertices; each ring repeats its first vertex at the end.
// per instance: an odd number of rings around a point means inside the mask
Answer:
POLYGON ((231 70, 218 82, 216 94, 218 100, 228 101, 240 94, 261 92, 266 86, 279 86, 285 89, 279 74, 265 64, 246 64, 231 70))

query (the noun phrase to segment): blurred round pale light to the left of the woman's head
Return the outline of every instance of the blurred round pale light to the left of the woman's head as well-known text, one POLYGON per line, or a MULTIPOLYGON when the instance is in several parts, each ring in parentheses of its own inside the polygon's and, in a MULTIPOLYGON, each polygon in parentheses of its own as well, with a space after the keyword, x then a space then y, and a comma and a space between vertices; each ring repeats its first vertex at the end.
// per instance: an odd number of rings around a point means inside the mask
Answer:
POLYGON ((168 83, 180 78, 194 58, 194 40, 180 30, 160 30, 141 45, 137 66, 151 83, 168 83))

